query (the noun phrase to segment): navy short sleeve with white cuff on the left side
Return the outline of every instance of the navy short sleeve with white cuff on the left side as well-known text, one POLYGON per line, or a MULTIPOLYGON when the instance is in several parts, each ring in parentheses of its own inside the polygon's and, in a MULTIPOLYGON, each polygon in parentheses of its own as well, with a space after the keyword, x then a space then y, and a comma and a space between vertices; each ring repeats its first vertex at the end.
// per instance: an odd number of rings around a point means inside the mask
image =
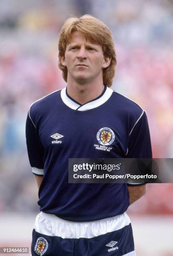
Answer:
POLYGON ((33 167, 33 173, 36 175, 43 175, 44 148, 38 139, 36 127, 31 120, 29 113, 26 120, 26 144, 30 165, 33 167))

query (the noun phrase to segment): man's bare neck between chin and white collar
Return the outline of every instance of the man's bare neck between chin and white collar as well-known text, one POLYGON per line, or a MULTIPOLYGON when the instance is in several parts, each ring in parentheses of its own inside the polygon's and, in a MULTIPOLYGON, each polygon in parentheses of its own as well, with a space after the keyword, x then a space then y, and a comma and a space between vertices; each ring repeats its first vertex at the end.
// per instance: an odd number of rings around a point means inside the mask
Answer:
POLYGON ((75 81, 67 81, 68 95, 80 104, 85 104, 86 102, 97 98, 102 94, 104 88, 103 81, 88 82, 85 84, 80 84, 75 81))

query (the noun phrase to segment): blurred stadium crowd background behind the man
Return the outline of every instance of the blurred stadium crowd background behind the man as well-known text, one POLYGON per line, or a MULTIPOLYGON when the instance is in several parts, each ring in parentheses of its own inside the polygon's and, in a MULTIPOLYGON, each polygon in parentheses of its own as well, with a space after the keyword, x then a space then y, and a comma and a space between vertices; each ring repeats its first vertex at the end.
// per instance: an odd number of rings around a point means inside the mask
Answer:
MULTIPOLYGON (((65 86, 58 33, 86 13, 113 32, 113 89, 146 110, 153 157, 173 158, 173 0, 1 0, 0 246, 30 246, 39 209, 25 120, 32 102, 65 86)), ((128 213, 138 256, 173 256, 173 184, 148 184, 128 213)))

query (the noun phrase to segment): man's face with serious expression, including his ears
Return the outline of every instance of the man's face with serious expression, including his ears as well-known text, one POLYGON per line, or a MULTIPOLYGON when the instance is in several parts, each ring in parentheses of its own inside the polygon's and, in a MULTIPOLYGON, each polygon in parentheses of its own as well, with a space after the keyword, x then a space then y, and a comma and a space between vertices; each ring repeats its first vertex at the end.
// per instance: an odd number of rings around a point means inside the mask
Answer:
POLYGON ((104 58, 99 44, 86 41, 83 33, 75 31, 61 62, 67 67, 68 79, 71 81, 85 84, 100 78, 103 83, 103 68, 109 66, 110 59, 104 58))

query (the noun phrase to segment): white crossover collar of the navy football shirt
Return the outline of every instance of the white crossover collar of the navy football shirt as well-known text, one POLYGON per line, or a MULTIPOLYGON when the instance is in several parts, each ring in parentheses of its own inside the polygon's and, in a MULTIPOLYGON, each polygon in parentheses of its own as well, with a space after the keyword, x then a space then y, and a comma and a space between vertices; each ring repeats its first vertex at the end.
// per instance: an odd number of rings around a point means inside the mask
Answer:
POLYGON ((109 87, 106 87, 106 90, 103 95, 101 94, 100 97, 97 97, 95 100, 92 100, 88 103, 80 105, 79 103, 75 102, 74 100, 70 99, 70 97, 68 97, 68 95, 66 94, 66 87, 65 87, 61 90, 61 99, 63 100, 65 105, 67 105, 69 108, 72 108, 78 111, 85 111, 85 110, 90 110, 90 109, 99 107, 110 98, 112 93, 113 93, 113 90, 110 89, 109 87))

